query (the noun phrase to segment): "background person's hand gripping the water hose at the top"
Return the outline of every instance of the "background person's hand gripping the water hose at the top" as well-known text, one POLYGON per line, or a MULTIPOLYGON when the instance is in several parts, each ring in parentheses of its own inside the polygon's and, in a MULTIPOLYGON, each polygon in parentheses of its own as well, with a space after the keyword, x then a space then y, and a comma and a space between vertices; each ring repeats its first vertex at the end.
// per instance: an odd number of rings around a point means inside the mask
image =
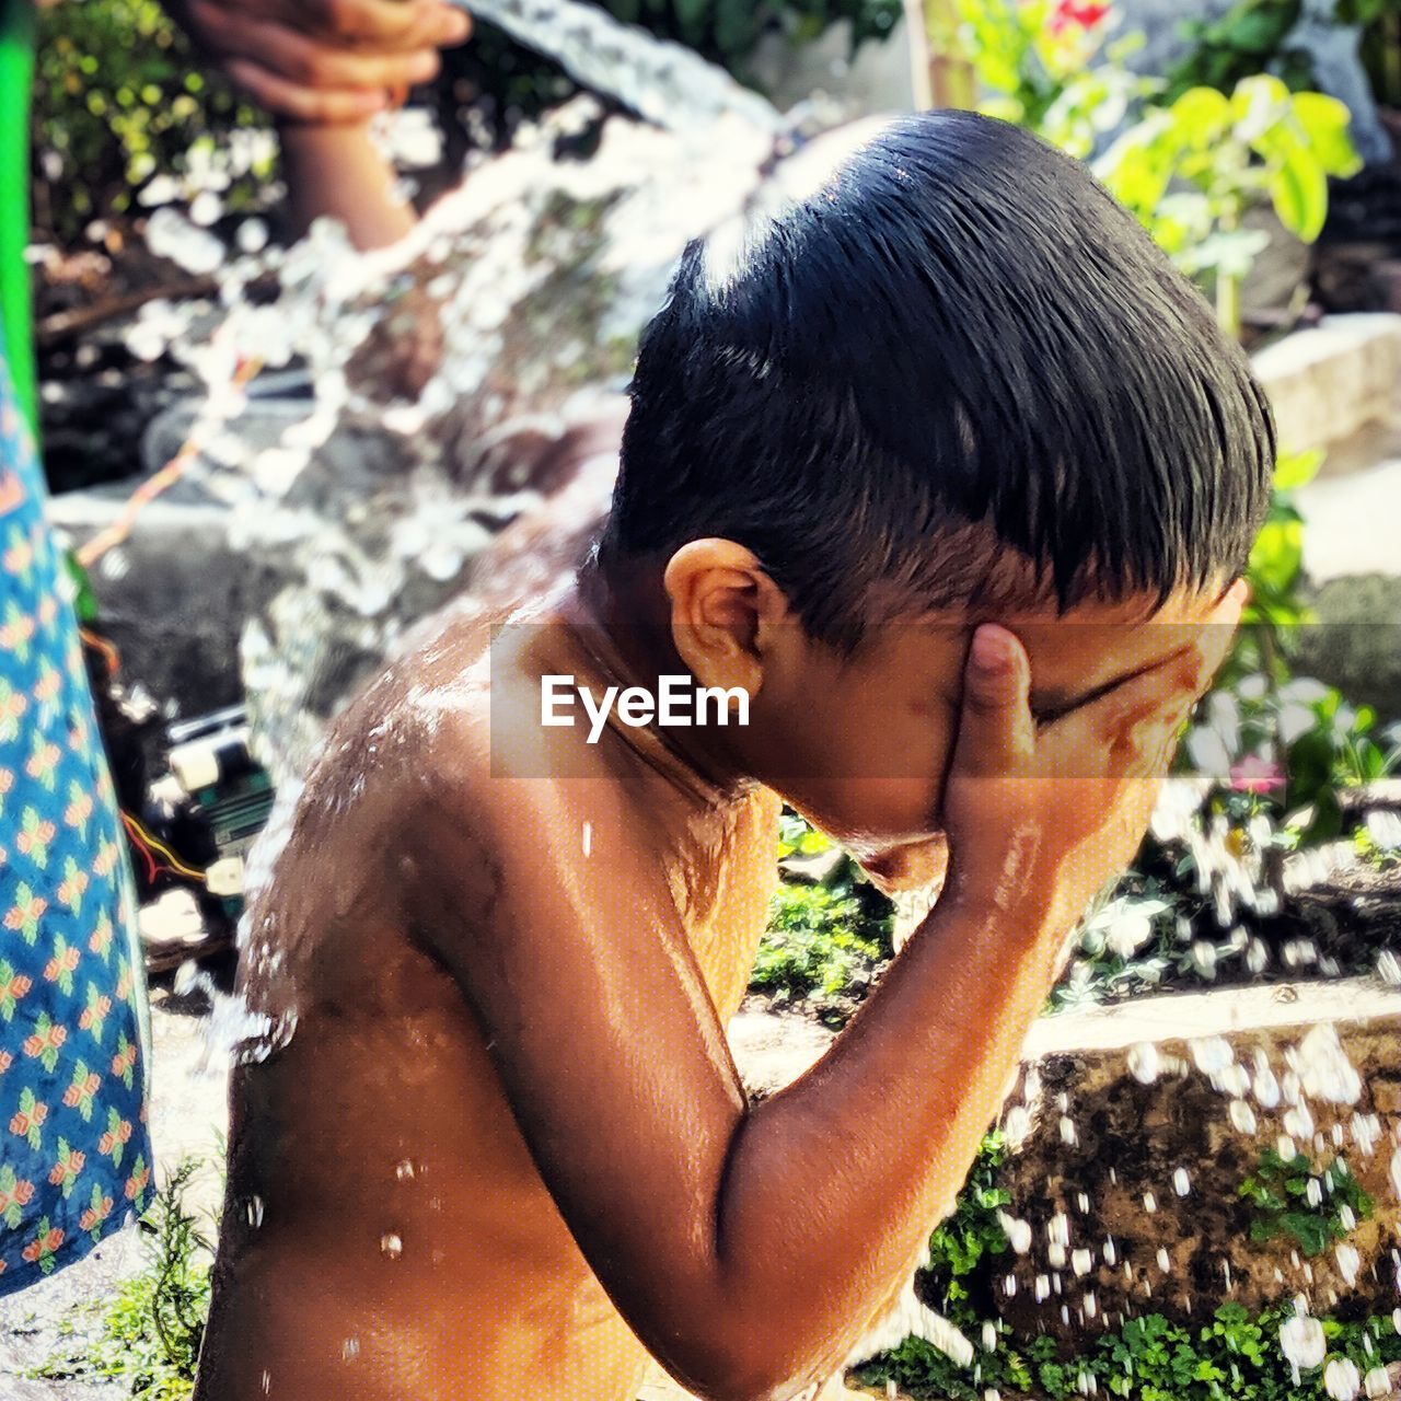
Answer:
POLYGON ((254 101, 293 122, 363 122, 439 71, 468 14, 441 0, 174 0, 195 42, 254 101))

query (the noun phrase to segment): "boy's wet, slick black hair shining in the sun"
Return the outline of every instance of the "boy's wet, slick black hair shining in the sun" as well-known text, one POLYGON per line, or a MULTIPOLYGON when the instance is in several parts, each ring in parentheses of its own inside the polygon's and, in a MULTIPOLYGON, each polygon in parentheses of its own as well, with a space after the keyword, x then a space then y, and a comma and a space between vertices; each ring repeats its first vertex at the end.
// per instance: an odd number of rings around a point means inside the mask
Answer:
POLYGON ((1009 546, 1062 609, 1223 587, 1274 469, 1196 289, 1083 165, 968 112, 883 127, 727 266, 692 242, 629 392, 600 565, 734 539, 842 650, 873 600, 1012 601, 1009 546))

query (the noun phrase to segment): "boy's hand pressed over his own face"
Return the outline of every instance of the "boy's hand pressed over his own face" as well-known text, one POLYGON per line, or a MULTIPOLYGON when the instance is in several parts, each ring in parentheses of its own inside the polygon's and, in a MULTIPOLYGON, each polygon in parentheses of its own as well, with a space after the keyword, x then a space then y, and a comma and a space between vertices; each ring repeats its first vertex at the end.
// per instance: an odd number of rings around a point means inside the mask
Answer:
MULTIPOLYGON (((944 790, 948 894, 1061 933, 1133 859, 1192 706, 1224 660, 1245 591, 1174 625, 1164 660, 1042 726, 1026 650, 978 629, 944 790)), ((946 897, 947 898, 947 897, 946 897)))

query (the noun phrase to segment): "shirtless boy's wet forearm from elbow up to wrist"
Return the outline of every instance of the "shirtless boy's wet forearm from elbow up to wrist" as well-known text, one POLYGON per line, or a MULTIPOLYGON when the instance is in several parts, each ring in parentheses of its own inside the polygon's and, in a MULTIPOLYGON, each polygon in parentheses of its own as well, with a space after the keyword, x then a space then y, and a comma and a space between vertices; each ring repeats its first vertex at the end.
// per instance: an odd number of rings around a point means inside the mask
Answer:
POLYGON ((998 1114, 1063 923, 936 908, 827 1056, 741 1124, 716 1251, 754 1330, 738 1355, 766 1369, 755 1397, 836 1367, 911 1269, 998 1114))

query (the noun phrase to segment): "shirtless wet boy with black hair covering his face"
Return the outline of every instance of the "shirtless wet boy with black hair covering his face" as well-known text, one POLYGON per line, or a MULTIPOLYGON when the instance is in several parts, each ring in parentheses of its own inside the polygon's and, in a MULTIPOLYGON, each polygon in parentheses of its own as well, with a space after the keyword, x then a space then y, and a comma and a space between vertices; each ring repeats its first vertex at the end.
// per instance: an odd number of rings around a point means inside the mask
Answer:
MULTIPOLYGON (((1133 856, 1240 615, 1274 429, 1084 171, 904 118, 649 328, 598 548, 345 715, 251 918, 199 1401, 710 1401, 839 1374, 1133 856), (541 684, 748 724, 542 726, 541 684), (780 794, 944 894, 748 1104, 780 794)), ((839 1380, 832 1394, 839 1393, 839 1380)))

